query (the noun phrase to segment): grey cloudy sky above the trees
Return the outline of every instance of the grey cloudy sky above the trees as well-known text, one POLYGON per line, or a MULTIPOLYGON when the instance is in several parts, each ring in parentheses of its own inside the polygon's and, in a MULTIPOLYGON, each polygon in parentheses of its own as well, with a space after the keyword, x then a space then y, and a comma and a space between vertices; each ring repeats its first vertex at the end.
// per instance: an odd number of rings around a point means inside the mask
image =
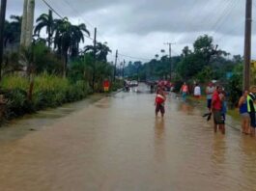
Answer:
MULTIPOLYGON (((231 54, 243 54, 245 0, 46 0, 73 24, 85 23, 93 34, 98 27, 98 41, 107 41, 119 61, 147 61, 164 42, 174 42, 173 55, 185 45, 192 47, 200 35, 213 36, 219 48, 231 54), (125 55, 125 56, 124 56, 125 55), (129 58, 129 57, 135 58, 129 58)), ((9 0, 7 16, 22 14, 23 0, 9 0)), ((253 10, 256 3, 253 3, 253 10)), ((36 0, 36 17, 47 13, 42 0, 36 0)), ((57 15, 55 15, 57 17, 57 15)), ((253 14, 252 55, 256 58, 256 22, 253 14)), ((92 43, 88 40, 86 43, 92 43)))

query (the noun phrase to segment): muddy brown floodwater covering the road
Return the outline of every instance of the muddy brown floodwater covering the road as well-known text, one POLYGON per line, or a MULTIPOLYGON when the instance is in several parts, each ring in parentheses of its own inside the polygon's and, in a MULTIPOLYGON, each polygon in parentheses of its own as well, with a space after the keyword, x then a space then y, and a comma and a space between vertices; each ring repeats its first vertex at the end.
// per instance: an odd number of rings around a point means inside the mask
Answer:
POLYGON ((229 127, 214 134, 202 111, 173 95, 164 119, 155 118, 155 95, 145 90, 1 129, 0 190, 256 190, 256 139, 229 127))

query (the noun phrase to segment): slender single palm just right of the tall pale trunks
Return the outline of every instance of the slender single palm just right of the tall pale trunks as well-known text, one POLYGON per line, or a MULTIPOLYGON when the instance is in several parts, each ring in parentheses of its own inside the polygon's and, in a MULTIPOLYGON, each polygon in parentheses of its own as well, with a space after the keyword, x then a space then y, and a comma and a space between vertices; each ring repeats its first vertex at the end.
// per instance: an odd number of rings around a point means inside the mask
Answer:
POLYGON ((44 27, 46 27, 46 34, 48 35, 47 43, 48 47, 51 46, 53 31, 54 31, 54 19, 52 16, 52 11, 49 10, 48 14, 41 14, 37 19, 38 25, 34 30, 34 34, 40 36, 40 33, 44 27))

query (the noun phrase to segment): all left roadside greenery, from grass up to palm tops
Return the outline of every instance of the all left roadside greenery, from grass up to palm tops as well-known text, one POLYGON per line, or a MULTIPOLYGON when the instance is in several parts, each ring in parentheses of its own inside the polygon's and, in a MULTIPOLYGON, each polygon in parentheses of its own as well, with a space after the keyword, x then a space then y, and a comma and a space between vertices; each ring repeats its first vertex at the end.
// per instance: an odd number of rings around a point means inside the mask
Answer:
MULTIPOLYGON (((22 17, 12 15, 5 24, 0 91, 8 99, 7 119, 102 93, 103 81, 113 79, 106 42, 80 47, 90 36, 85 24, 73 25, 67 17, 55 19, 49 11, 37 19, 32 44, 20 47, 21 21, 22 17)), ((123 81, 115 80, 110 90, 120 87, 123 81)))

